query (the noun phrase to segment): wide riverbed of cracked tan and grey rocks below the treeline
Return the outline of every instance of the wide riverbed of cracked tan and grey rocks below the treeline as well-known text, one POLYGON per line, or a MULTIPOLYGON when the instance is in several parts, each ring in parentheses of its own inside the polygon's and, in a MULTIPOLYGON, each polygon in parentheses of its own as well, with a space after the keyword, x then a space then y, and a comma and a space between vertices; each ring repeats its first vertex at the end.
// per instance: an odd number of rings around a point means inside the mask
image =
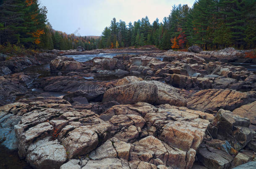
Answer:
POLYGON ((253 169, 256 74, 229 62, 255 60, 190 51, 0 55, 0 143, 23 159, 0 167, 253 169))

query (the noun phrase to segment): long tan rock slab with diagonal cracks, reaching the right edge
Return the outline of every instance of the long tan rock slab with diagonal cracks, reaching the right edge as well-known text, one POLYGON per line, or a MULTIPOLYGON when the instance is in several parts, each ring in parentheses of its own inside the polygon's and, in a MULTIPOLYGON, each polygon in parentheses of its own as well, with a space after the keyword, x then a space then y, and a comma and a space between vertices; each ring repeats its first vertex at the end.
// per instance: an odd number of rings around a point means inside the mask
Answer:
POLYGON ((234 110, 243 104, 253 101, 255 92, 238 92, 230 89, 207 89, 194 93, 188 98, 188 108, 217 112, 219 108, 234 110))

